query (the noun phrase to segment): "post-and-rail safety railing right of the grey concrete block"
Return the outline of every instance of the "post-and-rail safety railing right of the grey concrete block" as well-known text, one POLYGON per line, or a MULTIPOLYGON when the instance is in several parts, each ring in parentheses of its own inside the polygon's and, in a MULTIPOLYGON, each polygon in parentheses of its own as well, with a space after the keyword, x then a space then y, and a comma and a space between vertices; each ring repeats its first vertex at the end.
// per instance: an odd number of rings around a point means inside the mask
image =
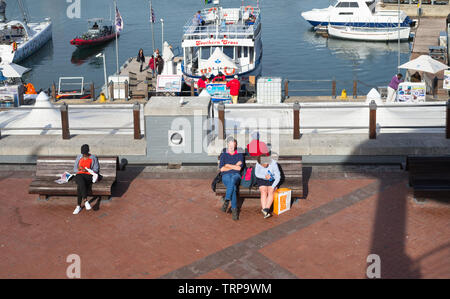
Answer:
MULTIPOLYGON (((223 140, 226 136, 225 127, 225 109, 236 110, 236 109, 255 109, 255 107, 242 106, 242 105, 227 105, 225 106, 223 102, 219 103, 218 109, 218 138, 223 140)), ((302 105, 298 102, 294 104, 284 104, 280 106, 273 105, 258 105, 257 109, 268 109, 268 110, 293 110, 293 126, 292 127, 282 127, 279 129, 292 129, 293 139, 300 139, 300 129, 368 129, 369 138, 377 138, 377 129, 445 129, 445 138, 450 139, 450 100, 445 104, 384 104, 377 105, 375 101, 371 101, 369 104, 350 104, 350 105, 302 105), (407 107, 446 107, 446 124, 445 126, 380 126, 377 124, 377 109, 383 108, 407 108, 407 107), (328 109, 328 108, 369 108, 369 124, 368 126, 303 126, 300 127, 300 111, 303 109, 328 109)), ((257 128, 246 128, 246 129, 257 129, 257 128)))

